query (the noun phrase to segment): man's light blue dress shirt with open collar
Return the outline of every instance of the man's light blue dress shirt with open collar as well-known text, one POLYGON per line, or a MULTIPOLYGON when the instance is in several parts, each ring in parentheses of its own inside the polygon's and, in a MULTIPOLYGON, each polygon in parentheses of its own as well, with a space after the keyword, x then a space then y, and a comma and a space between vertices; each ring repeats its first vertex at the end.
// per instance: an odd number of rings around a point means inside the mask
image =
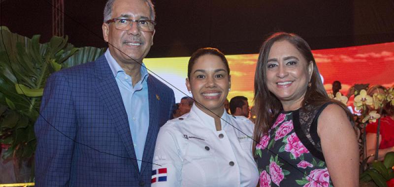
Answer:
MULTIPOLYGON (((149 101, 148 101, 148 83, 149 76, 146 68, 141 66, 141 80, 132 86, 131 76, 127 75, 122 67, 111 56, 109 50, 105 52, 105 58, 111 67, 112 73, 118 84, 120 94, 122 95, 123 104, 129 120, 132 142, 136 159, 138 159, 138 168, 141 170, 142 155, 144 154, 145 140, 149 127, 149 101)), ((142 63, 143 64, 143 63, 142 63)), ((143 64, 143 66, 145 66, 143 64)))

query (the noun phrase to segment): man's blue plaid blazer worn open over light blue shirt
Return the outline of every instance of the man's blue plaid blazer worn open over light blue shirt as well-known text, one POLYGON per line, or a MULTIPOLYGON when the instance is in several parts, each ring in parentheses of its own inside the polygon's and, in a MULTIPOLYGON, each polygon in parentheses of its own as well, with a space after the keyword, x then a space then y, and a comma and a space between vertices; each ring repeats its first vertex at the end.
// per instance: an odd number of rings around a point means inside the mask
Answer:
POLYGON ((48 78, 34 125, 36 187, 150 186, 159 128, 172 116, 173 91, 147 79, 149 128, 141 171, 126 110, 104 56, 48 78))

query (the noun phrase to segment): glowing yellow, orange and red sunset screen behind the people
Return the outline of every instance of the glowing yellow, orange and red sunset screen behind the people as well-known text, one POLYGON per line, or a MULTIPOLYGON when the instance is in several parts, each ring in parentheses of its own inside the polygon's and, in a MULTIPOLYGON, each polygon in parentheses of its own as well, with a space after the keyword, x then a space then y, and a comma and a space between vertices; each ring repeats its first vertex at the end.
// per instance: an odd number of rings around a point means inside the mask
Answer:
MULTIPOLYGON (((385 87, 394 84, 394 42, 314 50, 312 52, 324 78, 327 92, 332 92, 331 83, 335 80, 342 83, 340 90, 342 94, 346 94, 354 84, 380 84, 385 87)), ((233 96, 244 95, 248 97, 250 105, 252 104, 254 74, 258 56, 258 54, 226 56, 231 74, 229 100, 233 96)), ((189 57, 144 60, 148 69, 180 91, 190 95, 185 86, 188 62, 189 57)), ((169 85, 168 83, 166 84, 169 85)), ((174 87, 170 86, 170 88, 174 90, 176 102, 185 96, 174 87)))

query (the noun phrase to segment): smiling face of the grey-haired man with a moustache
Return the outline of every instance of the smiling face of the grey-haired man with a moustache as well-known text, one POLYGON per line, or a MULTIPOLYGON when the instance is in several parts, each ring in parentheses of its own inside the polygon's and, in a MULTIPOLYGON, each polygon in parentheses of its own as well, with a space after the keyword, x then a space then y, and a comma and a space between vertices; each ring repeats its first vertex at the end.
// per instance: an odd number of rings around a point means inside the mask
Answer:
MULTIPOLYGON (((143 0, 115 0, 112 7, 112 18, 150 20, 149 5, 143 0)), ((132 27, 128 31, 117 30, 115 23, 103 23, 102 32, 104 40, 108 42, 112 57, 122 67, 134 63, 128 56, 137 62, 142 62, 153 45, 154 32, 140 31, 135 22, 132 23, 132 27)))

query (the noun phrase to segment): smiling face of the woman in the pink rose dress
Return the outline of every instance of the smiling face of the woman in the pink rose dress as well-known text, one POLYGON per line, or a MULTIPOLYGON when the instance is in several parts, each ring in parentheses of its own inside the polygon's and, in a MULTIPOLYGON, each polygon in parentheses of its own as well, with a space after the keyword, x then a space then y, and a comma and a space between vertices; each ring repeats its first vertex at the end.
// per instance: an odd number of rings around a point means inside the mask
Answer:
POLYGON ((309 63, 290 42, 275 42, 266 63, 266 85, 285 110, 301 107, 313 71, 309 63))

